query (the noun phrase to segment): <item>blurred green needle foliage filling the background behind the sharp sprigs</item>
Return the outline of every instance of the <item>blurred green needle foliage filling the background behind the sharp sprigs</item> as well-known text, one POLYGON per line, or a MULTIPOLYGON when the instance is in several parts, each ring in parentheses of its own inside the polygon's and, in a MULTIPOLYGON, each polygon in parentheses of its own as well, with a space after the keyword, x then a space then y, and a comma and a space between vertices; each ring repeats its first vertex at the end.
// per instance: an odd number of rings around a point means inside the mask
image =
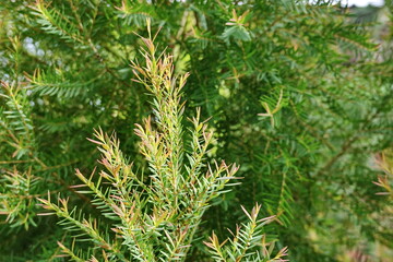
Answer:
MULTIPOLYGON (((312 2, 2 1, 0 260, 61 260, 56 240, 71 239, 37 216, 35 198, 61 192, 95 212, 70 188, 75 167, 96 165, 94 128, 116 130, 145 165, 132 130, 151 114, 148 96, 130 61, 148 17, 176 72, 191 73, 188 106, 212 117, 212 157, 243 177, 210 209, 201 239, 229 236, 240 204, 258 202, 277 215, 269 230, 290 261, 391 261, 392 196, 380 192, 392 176, 380 164, 392 162, 392 3, 312 2)), ((190 261, 204 261, 202 246, 190 261)))

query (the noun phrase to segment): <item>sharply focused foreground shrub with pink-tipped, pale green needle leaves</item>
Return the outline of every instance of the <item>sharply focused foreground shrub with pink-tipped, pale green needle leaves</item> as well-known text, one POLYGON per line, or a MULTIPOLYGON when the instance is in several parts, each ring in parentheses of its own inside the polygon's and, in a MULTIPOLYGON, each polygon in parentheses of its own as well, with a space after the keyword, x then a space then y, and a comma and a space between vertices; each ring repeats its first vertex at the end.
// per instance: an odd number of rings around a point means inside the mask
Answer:
MULTIPOLYGON (((98 145, 104 169, 88 177, 76 170, 82 183, 73 188, 93 195, 92 205, 100 211, 102 219, 69 207, 68 199, 60 198, 57 203, 50 194, 39 199, 49 211, 41 215, 56 214, 68 230, 78 231, 76 239, 84 236, 92 242, 92 249, 79 251, 74 245, 69 248, 59 242, 73 261, 184 261, 210 203, 226 191, 229 181, 237 179, 235 164, 206 160, 214 139, 206 122, 200 120, 199 110, 190 119, 190 139, 183 142, 184 103, 180 95, 188 74, 176 78, 172 57, 156 56, 155 37, 150 29, 148 35, 142 37, 145 66, 132 64, 135 81, 153 95, 153 116, 134 130, 148 170, 134 171, 120 151, 117 136, 99 129, 90 141, 98 145), (189 143, 188 150, 183 143, 189 143)), ((213 234, 206 242, 213 260, 283 261, 286 249, 272 255, 264 241, 263 225, 273 217, 259 221, 259 211, 260 205, 251 214, 245 210, 249 222, 243 228, 238 227, 228 247, 223 248, 213 234)))

